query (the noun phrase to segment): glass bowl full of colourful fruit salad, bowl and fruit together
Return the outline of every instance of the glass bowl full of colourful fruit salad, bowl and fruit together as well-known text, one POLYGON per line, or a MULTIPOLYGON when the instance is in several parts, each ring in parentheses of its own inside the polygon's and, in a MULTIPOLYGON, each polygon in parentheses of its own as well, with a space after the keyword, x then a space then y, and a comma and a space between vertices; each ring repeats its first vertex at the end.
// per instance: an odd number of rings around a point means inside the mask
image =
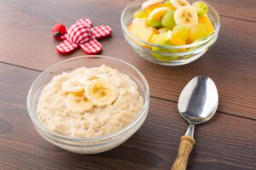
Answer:
POLYGON ((137 54, 159 65, 186 65, 216 42, 220 21, 206 2, 137 0, 121 15, 125 40, 137 54))

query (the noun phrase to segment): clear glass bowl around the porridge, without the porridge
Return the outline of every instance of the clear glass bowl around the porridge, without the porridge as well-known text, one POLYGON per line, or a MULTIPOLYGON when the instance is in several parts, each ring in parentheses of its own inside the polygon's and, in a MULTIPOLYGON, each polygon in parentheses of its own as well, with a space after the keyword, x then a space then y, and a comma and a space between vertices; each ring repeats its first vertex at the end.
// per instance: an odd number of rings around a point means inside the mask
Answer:
POLYGON ((133 133, 137 132, 138 128, 143 125, 143 122, 148 115, 149 96, 147 80, 133 65, 130 65, 123 60, 114 59, 108 56, 90 55, 61 61, 60 63, 52 65, 49 69, 40 74, 32 83, 32 87, 29 90, 26 99, 26 107, 34 127, 44 139, 64 150, 83 154, 95 154, 117 147, 119 144, 122 144, 125 140, 129 139, 133 133), (61 74, 63 71, 68 72, 83 66, 95 67, 103 64, 123 72, 137 83, 139 93, 143 96, 144 101, 143 109, 138 114, 137 118, 131 122, 131 124, 117 132, 96 138, 71 138, 58 133, 53 133, 45 128, 38 120, 36 111, 38 98, 42 89, 51 81, 52 77, 61 74))

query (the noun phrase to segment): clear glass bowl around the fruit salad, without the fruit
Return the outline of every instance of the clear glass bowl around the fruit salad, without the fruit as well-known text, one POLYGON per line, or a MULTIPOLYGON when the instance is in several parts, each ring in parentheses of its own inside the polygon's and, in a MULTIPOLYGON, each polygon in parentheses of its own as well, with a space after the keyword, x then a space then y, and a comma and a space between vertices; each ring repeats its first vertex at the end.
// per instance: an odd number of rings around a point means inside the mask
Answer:
MULTIPOLYGON (((145 42, 142 39, 135 37, 131 34, 130 31, 127 30, 127 26, 129 26, 133 20, 132 15, 139 8, 141 8, 142 3, 145 1, 147 0, 132 1, 125 7, 121 15, 121 26, 125 40, 131 45, 131 48, 133 48, 137 54, 143 57, 143 59, 159 65, 186 65, 195 59, 200 58, 207 52, 208 48, 210 48, 213 43, 216 42, 218 38, 220 21, 217 11, 209 4, 208 16, 212 21, 212 25, 214 26, 215 31, 212 33, 212 35, 202 39, 201 41, 193 42, 183 46, 161 46, 145 42), (163 50, 168 49, 168 51, 172 52, 161 52, 162 50, 153 51, 152 48, 154 47, 163 50)), ((189 1, 189 3, 193 2, 195 2, 195 0, 189 1)))

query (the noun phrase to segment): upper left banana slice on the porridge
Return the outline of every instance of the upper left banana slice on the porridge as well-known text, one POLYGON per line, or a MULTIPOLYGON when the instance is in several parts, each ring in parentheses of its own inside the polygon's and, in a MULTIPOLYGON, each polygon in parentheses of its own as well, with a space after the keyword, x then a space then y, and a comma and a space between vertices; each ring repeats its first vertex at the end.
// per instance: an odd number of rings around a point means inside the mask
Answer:
POLYGON ((84 93, 84 86, 79 82, 77 78, 67 80, 62 84, 61 88, 68 93, 84 93))

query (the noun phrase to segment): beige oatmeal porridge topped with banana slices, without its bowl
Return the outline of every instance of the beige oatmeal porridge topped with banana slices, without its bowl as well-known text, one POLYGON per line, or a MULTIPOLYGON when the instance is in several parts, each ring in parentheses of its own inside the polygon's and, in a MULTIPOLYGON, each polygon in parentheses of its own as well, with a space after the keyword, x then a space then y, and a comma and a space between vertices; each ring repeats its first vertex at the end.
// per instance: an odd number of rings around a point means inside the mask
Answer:
POLYGON ((143 109, 137 84, 102 65, 53 77, 38 99, 39 121, 50 131, 89 138, 118 131, 143 109))

